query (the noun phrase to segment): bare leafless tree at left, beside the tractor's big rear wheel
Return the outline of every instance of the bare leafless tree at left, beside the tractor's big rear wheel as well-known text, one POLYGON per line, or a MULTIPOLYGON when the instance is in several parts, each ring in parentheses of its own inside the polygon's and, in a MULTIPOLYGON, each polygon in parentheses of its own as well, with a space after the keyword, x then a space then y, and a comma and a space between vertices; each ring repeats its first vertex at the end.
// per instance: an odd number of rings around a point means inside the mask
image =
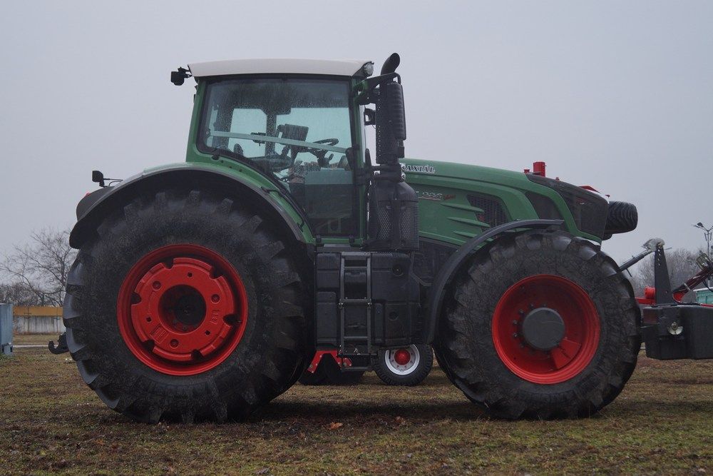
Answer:
POLYGON ((14 246, 0 263, 0 270, 12 285, 33 297, 27 300, 62 305, 69 268, 76 257, 76 250, 69 246, 69 231, 43 228, 32 232, 30 239, 29 244, 14 246))

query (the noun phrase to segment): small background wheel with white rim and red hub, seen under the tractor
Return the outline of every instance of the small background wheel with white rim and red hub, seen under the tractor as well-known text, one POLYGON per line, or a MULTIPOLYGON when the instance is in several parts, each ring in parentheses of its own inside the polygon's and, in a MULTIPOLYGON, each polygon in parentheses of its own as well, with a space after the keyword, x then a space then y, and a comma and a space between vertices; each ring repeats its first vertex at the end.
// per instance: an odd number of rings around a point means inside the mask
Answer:
POLYGON ((386 385, 419 385, 431 372, 434 353, 430 345, 409 345, 380 350, 372 367, 386 385))

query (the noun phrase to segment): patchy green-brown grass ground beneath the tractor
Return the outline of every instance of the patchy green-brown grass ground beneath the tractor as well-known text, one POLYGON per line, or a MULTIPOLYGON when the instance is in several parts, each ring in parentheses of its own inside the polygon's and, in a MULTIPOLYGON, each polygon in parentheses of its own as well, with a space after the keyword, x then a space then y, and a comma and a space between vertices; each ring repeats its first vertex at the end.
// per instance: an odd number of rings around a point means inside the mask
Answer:
POLYGON ((417 388, 373 373, 354 387, 295 385, 245 423, 143 425, 108 410, 67 354, 17 349, 0 358, 0 473, 38 472, 710 475, 713 363, 642 357, 585 420, 490 420, 436 369, 417 388))

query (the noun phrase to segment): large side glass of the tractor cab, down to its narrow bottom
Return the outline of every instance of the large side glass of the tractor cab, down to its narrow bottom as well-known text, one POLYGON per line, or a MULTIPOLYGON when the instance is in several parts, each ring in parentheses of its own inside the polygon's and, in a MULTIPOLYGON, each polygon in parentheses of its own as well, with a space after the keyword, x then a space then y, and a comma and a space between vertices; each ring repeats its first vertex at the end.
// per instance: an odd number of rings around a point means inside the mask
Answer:
POLYGON ((314 233, 356 233, 349 81, 230 79, 208 84, 206 94, 200 150, 270 173, 314 233))

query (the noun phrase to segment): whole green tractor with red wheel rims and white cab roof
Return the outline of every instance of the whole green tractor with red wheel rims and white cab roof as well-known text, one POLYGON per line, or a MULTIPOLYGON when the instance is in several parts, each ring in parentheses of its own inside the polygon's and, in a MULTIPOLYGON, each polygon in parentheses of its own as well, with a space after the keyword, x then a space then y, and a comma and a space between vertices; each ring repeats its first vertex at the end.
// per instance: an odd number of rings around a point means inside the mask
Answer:
POLYGON ((174 71, 176 85, 197 82, 186 160, 123 181, 93 173, 100 188, 70 238, 67 332, 51 350, 146 422, 244 418, 317 352, 363 372, 379 353, 433 345, 466 397, 508 419, 597 412, 630 378, 642 335, 658 358, 713 357, 710 340, 689 342, 709 314, 665 285, 642 313, 625 266, 600 249, 635 228, 634 206, 543 164, 404 159, 398 64, 378 76, 370 61, 174 71))

